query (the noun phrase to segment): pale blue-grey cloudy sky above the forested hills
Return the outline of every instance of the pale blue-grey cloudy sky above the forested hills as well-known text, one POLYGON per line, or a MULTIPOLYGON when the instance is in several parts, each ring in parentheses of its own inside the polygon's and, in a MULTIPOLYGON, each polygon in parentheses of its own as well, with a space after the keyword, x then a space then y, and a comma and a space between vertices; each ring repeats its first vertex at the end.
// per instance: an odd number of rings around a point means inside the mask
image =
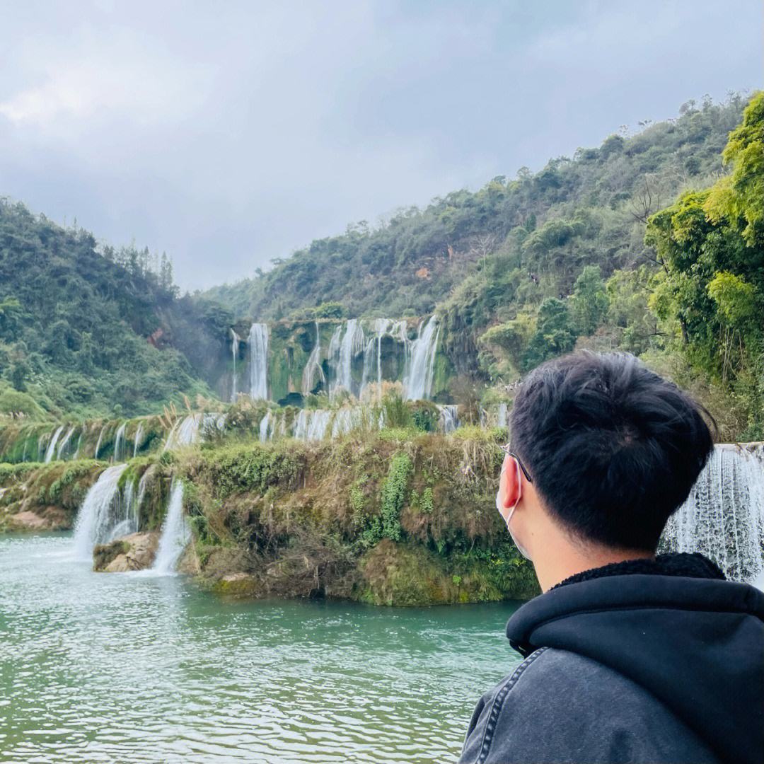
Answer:
POLYGON ((185 290, 762 85, 760 0, 0 0, 0 196, 185 290))

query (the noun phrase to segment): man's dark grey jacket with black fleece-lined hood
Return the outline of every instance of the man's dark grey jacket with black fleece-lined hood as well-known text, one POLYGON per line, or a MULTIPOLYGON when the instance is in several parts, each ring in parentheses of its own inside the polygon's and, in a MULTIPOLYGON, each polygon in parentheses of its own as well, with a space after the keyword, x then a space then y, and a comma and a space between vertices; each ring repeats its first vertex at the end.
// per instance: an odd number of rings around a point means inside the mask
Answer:
POLYGON ((762 764, 764 593, 723 578, 659 555, 520 607, 525 660, 478 702, 461 764, 762 764))

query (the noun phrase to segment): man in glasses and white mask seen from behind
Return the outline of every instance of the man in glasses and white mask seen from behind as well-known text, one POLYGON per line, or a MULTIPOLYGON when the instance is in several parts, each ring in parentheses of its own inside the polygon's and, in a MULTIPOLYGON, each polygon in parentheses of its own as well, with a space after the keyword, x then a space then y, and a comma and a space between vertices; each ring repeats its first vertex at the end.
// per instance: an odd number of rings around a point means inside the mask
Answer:
MULTIPOLYGON (((764 594, 657 555, 713 448, 701 408, 627 354, 525 380, 497 508, 544 591, 524 660, 481 698, 463 764, 764 761, 764 594)), ((720 530, 721 532, 721 530, 720 530)))

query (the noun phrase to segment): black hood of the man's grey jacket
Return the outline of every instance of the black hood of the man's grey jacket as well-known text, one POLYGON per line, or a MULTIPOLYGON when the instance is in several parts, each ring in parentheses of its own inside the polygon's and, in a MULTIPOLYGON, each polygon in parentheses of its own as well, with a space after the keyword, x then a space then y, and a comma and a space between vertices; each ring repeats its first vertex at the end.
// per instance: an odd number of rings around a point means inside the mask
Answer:
POLYGON ((597 661, 652 693, 722 761, 761 764, 764 593, 720 580, 701 555, 662 555, 644 572, 607 568, 520 607, 507 623, 512 646, 597 661))

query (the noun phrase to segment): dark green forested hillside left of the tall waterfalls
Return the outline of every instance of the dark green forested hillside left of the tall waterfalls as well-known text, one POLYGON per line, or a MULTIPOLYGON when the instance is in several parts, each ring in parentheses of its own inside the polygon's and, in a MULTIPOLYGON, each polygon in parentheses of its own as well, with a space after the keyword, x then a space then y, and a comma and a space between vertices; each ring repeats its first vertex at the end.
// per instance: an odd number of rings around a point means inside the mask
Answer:
POLYGON ((136 414, 209 395, 231 318, 177 297, 167 258, 150 261, 0 200, 0 410, 136 414))

